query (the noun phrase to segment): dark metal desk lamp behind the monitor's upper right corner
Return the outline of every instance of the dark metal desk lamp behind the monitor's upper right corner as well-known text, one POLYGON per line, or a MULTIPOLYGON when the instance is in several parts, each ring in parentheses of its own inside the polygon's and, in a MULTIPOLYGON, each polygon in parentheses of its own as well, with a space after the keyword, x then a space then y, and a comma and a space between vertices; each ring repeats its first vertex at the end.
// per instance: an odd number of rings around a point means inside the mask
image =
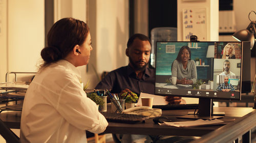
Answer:
POLYGON ((253 48, 253 45, 255 43, 255 38, 256 38, 256 28, 255 28, 255 24, 256 21, 252 21, 250 19, 250 14, 251 12, 253 12, 254 14, 256 14, 254 11, 250 11, 248 18, 251 21, 250 24, 247 26, 247 28, 245 30, 240 30, 236 33, 233 34, 233 38, 238 40, 238 41, 250 41, 251 42, 251 49, 253 48))

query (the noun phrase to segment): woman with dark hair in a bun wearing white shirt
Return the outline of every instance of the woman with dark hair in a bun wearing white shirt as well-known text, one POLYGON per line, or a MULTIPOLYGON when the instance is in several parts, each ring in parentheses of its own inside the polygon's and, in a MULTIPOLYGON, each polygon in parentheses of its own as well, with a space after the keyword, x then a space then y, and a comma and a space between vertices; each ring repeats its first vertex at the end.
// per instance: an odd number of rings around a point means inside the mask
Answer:
POLYGON ((76 67, 90 59, 91 35, 83 21, 63 18, 47 35, 44 63, 27 90, 21 142, 87 142, 86 130, 101 133, 108 122, 83 91, 76 67))

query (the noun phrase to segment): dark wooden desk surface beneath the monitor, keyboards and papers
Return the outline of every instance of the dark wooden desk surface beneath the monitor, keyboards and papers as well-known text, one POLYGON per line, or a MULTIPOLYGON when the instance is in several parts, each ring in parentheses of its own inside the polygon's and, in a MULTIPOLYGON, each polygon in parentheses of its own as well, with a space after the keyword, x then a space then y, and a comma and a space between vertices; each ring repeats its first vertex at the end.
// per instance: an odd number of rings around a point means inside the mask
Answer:
MULTIPOLYGON (((214 111, 225 111, 225 117, 222 118, 226 123, 230 123, 245 116, 254 109, 249 107, 215 107, 214 111)), ((189 119, 178 119, 177 116, 187 115, 188 111, 194 110, 163 110, 162 116, 166 116, 172 121, 191 121, 189 119)), ((0 113, 0 118, 7 126, 14 129, 20 128, 21 111, 9 111, 0 113)), ((211 131, 214 131, 223 125, 193 127, 193 128, 176 128, 170 126, 160 126, 154 124, 153 119, 148 119, 145 123, 125 124, 109 122, 109 126, 104 133, 119 133, 119 134, 151 134, 151 135, 188 135, 202 136, 211 131)))

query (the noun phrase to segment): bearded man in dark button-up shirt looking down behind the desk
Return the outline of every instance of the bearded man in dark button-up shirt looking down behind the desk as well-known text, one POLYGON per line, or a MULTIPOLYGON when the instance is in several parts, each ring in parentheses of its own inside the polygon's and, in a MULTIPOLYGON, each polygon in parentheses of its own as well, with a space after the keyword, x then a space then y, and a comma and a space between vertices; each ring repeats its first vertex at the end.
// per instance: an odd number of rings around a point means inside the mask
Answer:
MULTIPOLYGON (((125 89, 139 95, 141 92, 154 94, 155 72, 148 67, 151 54, 150 39, 142 34, 135 34, 127 42, 125 51, 129 57, 129 65, 108 73, 95 89, 110 90, 112 93, 121 93, 125 89)), ((181 97, 166 97, 170 104, 179 104, 181 97)))

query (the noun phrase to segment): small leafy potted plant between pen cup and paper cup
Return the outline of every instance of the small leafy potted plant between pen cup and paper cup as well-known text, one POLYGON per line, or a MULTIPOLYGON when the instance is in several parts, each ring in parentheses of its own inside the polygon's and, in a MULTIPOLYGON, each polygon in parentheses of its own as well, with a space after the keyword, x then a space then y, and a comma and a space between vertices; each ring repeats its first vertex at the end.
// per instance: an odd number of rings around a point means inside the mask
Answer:
POLYGON ((126 109, 134 107, 136 101, 138 101, 138 96, 136 93, 133 92, 125 92, 121 94, 121 99, 125 100, 125 107, 126 109))

